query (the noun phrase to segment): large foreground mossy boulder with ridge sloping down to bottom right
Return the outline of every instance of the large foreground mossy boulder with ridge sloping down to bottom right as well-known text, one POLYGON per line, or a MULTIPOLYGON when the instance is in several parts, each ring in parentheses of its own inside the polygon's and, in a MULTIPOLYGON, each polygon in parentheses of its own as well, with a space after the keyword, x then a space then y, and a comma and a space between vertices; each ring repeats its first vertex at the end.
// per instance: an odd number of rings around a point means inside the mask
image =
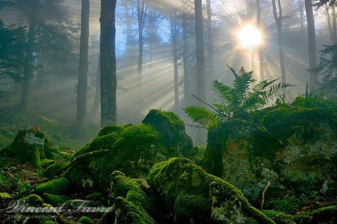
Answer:
POLYGON ((275 223, 230 183, 186 158, 155 164, 148 176, 176 223, 275 223))

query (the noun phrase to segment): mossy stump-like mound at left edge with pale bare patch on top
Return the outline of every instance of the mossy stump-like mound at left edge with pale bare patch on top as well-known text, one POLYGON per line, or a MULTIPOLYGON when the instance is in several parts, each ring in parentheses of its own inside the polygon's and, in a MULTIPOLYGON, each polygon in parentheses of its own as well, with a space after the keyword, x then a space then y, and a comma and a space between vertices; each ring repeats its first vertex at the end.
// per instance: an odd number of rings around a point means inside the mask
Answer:
POLYGON ((21 130, 13 142, 0 149, 0 155, 18 158, 20 163, 30 162, 33 167, 40 168, 42 159, 50 159, 45 150, 50 149, 50 141, 43 133, 32 130, 21 130))

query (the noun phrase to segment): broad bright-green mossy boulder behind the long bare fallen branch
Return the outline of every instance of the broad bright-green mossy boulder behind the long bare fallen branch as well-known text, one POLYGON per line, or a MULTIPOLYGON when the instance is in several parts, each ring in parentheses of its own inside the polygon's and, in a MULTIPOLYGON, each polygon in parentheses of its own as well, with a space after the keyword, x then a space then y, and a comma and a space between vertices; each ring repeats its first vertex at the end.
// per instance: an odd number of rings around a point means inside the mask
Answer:
POLYGON ((65 177, 75 188, 108 194, 110 174, 115 170, 128 177, 143 178, 156 162, 171 155, 163 146, 162 135, 145 124, 105 127, 74 157, 98 150, 106 151, 89 155, 66 171, 65 177))

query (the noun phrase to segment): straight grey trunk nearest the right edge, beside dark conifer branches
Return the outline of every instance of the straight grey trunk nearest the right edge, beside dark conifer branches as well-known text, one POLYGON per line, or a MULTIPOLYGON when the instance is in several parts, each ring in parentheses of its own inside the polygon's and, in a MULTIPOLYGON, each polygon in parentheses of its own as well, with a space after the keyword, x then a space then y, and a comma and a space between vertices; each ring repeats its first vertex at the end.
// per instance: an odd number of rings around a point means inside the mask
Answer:
MULTIPOLYGON (((308 24, 308 53, 309 53, 309 68, 313 69, 317 66, 316 57, 316 34, 315 34, 315 21, 313 18, 311 0, 305 0, 305 12, 308 24)), ((310 71, 310 87, 316 88, 317 72, 310 71)))

